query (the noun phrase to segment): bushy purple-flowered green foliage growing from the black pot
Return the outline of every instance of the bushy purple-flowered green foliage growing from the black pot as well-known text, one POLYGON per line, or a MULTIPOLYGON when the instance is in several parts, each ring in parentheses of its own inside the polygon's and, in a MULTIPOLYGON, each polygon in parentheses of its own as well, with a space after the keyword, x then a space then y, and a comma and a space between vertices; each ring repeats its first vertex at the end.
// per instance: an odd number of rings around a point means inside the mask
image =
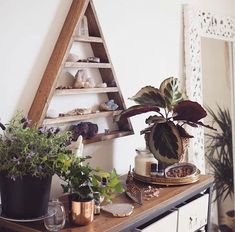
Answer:
POLYGON ((72 162, 67 148, 69 132, 37 127, 18 113, 7 125, 0 124, 0 173, 15 180, 26 175, 46 177, 66 171, 72 162))

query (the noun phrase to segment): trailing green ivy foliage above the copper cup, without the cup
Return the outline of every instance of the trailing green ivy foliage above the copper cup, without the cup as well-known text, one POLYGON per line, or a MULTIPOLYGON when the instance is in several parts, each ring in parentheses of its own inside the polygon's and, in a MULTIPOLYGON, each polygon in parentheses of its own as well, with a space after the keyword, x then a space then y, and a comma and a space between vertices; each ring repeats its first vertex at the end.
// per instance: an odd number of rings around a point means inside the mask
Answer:
POLYGON ((99 168, 92 169, 85 161, 86 157, 76 157, 66 172, 61 173, 64 192, 69 192, 75 201, 88 201, 99 192, 106 201, 111 201, 117 193, 123 192, 122 184, 115 169, 105 172, 99 168), (102 178, 107 179, 105 186, 101 185, 102 178))

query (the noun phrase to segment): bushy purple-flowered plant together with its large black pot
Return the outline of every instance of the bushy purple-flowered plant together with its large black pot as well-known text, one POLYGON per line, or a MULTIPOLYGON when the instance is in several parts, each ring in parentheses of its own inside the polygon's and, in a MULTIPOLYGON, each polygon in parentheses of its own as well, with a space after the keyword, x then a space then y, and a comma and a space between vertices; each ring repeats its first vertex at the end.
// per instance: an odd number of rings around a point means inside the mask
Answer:
POLYGON ((2 215, 14 219, 47 214, 52 175, 65 171, 73 157, 70 133, 29 124, 21 114, 0 124, 2 215))

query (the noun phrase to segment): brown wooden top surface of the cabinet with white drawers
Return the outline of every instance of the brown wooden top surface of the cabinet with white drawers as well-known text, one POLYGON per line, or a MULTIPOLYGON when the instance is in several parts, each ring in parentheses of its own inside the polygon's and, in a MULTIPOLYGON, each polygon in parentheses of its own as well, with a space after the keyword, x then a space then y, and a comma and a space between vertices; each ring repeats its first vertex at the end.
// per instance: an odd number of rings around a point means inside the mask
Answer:
MULTIPOLYGON (((208 184, 213 182, 212 177, 201 176, 197 183, 191 185, 183 185, 176 187, 161 187, 159 197, 153 198, 149 201, 144 201, 143 205, 133 204, 134 211, 129 217, 124 218, 114 218, 112 215, 107 213, 101 213, 101 215, 96 216, 95 220, 88 226, 77 227, 77 228, 67 228, 63 229, 63 232, 114 232, 123 230, 129 224, 137 221, 143 220, 146 216, 152 213, 157 213, 162 211, 168 206, 174 205, 175 202, 187 198, 187 196, 198 192, 198 190, 203 189, 208 184)), ((127 202, 130 203, 130 199, 126 197, 125 194, 120 195, 115 199, 114 202, 127 202)))

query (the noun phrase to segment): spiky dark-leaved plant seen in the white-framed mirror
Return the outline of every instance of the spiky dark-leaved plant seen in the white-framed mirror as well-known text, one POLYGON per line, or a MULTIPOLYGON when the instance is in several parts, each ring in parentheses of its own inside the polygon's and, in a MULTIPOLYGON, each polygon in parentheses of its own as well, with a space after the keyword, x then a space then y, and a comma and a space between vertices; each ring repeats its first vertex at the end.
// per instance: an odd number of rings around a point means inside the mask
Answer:
MULTIPOLYGON (((233 199, 234 196, 232 122, 228 109, 222 109, 218 106, 216 113, 211 108, 208 108, 207 111, 219 129, 214 133, 205 134, 207 138, 205 150, 206 158, 215 178, 215 200, 218 200, 221 205, 228 197, 233 199)), ((225 220, 220 223, 221 231, 225 231, 225 227, 228 226, 231 229, 227 228, 226 231, 232 231, 234 212, 234 210, 226 212, 225 220)))

